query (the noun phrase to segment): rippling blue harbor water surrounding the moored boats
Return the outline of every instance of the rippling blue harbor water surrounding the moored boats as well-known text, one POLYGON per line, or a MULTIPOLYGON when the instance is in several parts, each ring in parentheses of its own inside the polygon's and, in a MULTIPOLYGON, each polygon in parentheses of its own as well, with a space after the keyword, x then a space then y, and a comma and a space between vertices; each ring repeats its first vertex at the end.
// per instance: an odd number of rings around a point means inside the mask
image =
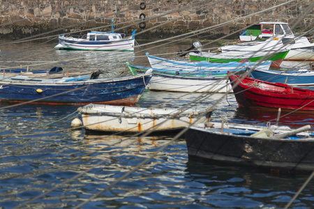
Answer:
MULTIPOLYGON (((65 72, 103 70, 103 77, 130 75, 126 61, 147 66, 145 52, 170 57, 190 47, 187 41, 135 52, 84 52, 56 50, 55 39, 8 42, 1 42, 1 69, 59 66, 65 72)), ((214 105, 211 121, 276 123, 276 111, 239 108, 232 93, 144 91, 136 105, 180 108, 189 102, 214 105)), ((191 160, 184 135, 175 133, 138 137, 72 130, 79 107, 1 104, 0 208, 284 208, 309 176, 191 160)), ((301 127, 313 120, 312 114, 283 111, 278 123, 301 127)), ((290 208, 313 206, 312 180, 290 208)))

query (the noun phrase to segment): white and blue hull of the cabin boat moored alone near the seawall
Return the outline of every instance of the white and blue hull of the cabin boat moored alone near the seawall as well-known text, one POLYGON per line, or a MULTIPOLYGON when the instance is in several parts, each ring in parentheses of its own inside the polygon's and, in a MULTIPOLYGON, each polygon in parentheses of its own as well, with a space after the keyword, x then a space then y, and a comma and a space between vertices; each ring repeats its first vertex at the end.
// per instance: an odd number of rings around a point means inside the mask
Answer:
POLYGON ((90 40, 75 40, 75 38, 60 38, 59 45, 56 49, 68 50, 94 50, 94 51, 134 51, 135 39, 129 38, 126 40, 117 41, 90 41, 90 40))

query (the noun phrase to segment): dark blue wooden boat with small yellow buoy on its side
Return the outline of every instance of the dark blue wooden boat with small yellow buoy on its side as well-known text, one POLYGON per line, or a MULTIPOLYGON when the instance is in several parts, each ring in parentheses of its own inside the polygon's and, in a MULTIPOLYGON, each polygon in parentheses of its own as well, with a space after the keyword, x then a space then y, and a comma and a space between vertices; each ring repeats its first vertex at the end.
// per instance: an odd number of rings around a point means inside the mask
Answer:
POLYGON ((130 105, 140 99, 151 74, 121 78, 88 76, 40 79, 25 75, 0 78, 1 102, 130 105))

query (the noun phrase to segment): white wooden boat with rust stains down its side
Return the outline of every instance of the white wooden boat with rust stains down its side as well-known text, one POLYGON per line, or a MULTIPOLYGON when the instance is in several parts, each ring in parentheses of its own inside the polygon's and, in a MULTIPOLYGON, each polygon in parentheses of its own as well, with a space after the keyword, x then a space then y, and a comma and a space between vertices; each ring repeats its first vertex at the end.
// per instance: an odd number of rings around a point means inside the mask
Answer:
POLYGON ((87 130, 103 132, 165 132, 209 121, 212 109, 142 108, 87 104, 78 109, 87 130))

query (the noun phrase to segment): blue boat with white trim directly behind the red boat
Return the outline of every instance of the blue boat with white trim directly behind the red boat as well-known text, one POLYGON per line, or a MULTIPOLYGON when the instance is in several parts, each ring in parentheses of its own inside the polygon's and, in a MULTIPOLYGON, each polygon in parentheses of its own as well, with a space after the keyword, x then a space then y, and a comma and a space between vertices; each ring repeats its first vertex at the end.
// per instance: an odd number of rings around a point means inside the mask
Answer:
POLYGON ((311 70, 278 71, 252 70, 251 76, 266 82, 283 83, 289 86, 314 86, 314 72, 311 70))

